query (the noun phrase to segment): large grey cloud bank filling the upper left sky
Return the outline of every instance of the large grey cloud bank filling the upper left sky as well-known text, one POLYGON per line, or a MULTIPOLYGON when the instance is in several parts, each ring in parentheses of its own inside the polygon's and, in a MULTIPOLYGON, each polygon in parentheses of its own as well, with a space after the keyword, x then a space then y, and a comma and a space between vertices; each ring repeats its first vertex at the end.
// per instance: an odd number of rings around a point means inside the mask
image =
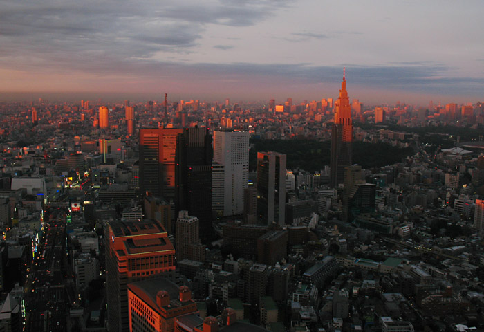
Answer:
POLYGON ((193 52, 207 24, 251 26, 288 0, 3 1, 0 64, 93 67, 193 52), (275 6, 275 7, 274 7, 275 6), (24 55, 24 57, 18 57, 24 55), (27 63, 24 59, 30 59, 27 63), (64 63, 62 61, 65 61, 64 63), (88 64, 88 66, 89 66, 88 64))

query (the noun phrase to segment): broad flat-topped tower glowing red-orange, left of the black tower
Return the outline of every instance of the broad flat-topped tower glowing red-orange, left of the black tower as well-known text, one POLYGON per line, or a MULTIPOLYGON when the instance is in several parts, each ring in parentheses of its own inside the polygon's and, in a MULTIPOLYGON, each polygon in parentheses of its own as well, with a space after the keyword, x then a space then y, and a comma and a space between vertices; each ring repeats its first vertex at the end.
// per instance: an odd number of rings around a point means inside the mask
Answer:
POLYGON ((140 129, 140 190, 175 198, 176 136, 183 129, 140 129))

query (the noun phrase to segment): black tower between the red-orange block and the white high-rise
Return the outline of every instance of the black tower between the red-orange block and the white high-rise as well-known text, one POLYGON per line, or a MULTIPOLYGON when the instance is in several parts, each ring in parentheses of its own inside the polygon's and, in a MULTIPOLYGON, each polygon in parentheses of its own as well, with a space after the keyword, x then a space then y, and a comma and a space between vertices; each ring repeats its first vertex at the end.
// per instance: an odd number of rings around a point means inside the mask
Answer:
POLYGON ((200 237, 212 234, 212 135, 208 128, 185 128, 176 139, 176 213, 200 221, 200 237))

